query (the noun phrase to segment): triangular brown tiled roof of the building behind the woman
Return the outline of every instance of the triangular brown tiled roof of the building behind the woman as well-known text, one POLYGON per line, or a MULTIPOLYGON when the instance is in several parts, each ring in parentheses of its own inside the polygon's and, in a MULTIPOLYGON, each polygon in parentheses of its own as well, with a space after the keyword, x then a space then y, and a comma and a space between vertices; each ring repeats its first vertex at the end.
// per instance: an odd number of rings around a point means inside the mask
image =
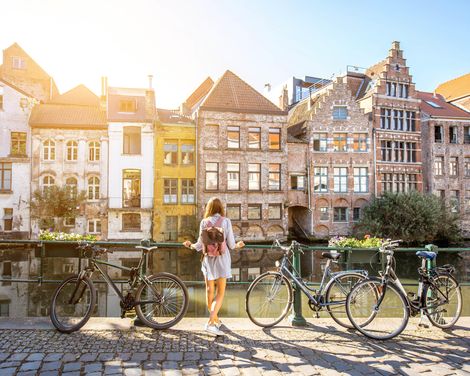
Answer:
POLYGON ((269 115, 287 114, 229 70, 213 86, 202 102, 201 109, 269 115))

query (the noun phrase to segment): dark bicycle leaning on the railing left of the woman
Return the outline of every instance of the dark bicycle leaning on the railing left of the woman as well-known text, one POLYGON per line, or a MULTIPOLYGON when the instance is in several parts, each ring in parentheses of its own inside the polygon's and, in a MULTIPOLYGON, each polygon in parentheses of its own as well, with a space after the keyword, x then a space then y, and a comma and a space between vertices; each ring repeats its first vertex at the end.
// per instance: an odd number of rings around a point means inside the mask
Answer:
POLYGON ((157 273, 147 276, 144 273, 144 260, 149 252, 158 247, 142 241, 135 248, 142 250, 137 267, 128 268, 111 264, 99 257, 112 250, 101 248, 91 243, 82 243, 78 247, 88 265, 78 274, 65 279, 57 287, 51 301, 50 318, 57 330, 71 333, 79 330, 92 315, 97 301, 96 288, 92 275, 99 274, 116 292, 120 299, 121 318, 127 311, 135 309, 142 323, 154 329, 168 329, 178 323, 188 309, 188 290, 177 276, 170 273, 157 273), (106 265, 129 272, 130 289, 126 295, 100 267, 106 265))

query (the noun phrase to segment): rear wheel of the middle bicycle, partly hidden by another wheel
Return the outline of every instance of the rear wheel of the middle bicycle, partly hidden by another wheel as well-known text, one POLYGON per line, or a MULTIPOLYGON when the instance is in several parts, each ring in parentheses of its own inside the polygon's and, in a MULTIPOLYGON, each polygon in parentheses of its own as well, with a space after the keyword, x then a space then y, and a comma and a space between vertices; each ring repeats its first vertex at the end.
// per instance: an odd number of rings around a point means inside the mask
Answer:
POLYGON ((354 328, 346 313, 346 298, 351 289, 365 277, 359 273, 345 273, 333 278, 325 292, 325 304, 331 318, 345 328, 354 328))

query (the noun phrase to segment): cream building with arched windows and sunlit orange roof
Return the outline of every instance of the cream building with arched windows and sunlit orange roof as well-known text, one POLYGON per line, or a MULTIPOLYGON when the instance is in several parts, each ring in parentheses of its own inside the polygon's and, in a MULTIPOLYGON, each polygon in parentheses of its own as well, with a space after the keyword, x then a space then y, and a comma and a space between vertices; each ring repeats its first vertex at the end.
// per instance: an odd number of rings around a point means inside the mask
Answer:
MULTIPOLYGON (((79 85, 33 108, 31 188, 67 186, 84 191, 87 201, 75 218, 59 228, 107 237, 108 131, 98 96, 79 85)), ((33 221, 33 236, 50 224, 33 221)))

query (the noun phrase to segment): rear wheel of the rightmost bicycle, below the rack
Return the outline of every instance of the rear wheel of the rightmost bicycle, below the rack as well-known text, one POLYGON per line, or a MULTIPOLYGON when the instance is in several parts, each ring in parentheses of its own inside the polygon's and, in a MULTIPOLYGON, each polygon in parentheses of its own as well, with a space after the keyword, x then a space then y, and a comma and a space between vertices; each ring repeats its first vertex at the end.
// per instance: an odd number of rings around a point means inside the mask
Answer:
POLYGON ((426 284, 423 289, 425 314, 438 328, 453 326, 462 313, 462 291, 459 283, 449 274, 440 274, 434 285, 426 284))

